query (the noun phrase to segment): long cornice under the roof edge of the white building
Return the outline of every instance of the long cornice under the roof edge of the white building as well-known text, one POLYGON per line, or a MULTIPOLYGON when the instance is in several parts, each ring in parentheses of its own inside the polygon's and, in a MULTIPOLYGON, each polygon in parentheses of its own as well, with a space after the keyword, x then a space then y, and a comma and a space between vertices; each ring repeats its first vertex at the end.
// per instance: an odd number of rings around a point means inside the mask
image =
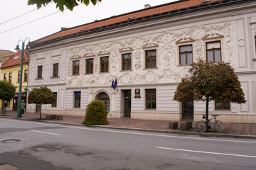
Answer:
POLYGON ((33 50, 39 50, 46 47, 53 47, 56 45, 64 45, 70 44, 73 42, 78 42, 80 40, 85 40, 87 38, 99 38, 105 35, 117 34, 122 32, 127 32, 129 30, 138 30, 138 28, 159 26, 159 24, 166 23, 166 18, 170 18, 167 22, 178 22, 184 20, 190 20, 193 18, 201 18, 206 17, 206 13, 202 13, 201 11, 207 10, 207 16, 212 16, 220 13, 228 13, 232 11, 238 11, 246 8, 255 8, 256 5, 247 4, 247 6, 238 6, 245 1, 252 0, 233 0, 233 1, 218 1, 210 4, 201 4, 200 6, 193 6, 190 8, 181 8, 175 11, 169 11, 165 13, 158 13, 152 16, 144 16, 142 18, 134 18, 128 21, 122 21, 119 23, 110 24, 108 26, 102 26, 99 28, 93 28, 91 30, 81 31, 80 33, 75 33, 72 35, 66 35, 60 38, 55 38, 52 40, 39 42, 38 44, 32 45, 32 48, 29 50, 33 52, 33 50), (233 6, 232 5, 236 5, 233 6), (226 6, 231 6, 231 8, 226 8, 226 6), (209 12, 210 10, 213 10, 209 12), (198 13, 197 13, 198 12, 198 13), (187 15, 188 13, 195 13, 195 15, 187 15), (178 17, 181 16, 183 17, 178 17), (164 19, 164 20, 163 20, 164 19), (122 28, 122 29, 121 29, 122 28))

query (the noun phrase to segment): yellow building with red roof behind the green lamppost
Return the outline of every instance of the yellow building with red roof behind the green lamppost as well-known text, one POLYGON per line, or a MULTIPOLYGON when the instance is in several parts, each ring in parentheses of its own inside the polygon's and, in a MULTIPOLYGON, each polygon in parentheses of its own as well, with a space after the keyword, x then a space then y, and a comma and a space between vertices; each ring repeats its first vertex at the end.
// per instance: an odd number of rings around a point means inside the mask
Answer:
MULTIPOLYGON (((22 103, 25 103, 25 110, 26 110, 26 88, 28 84, 28 64, 29 58, 26 52, 24 52, 24 60, 23 60, 23 73, 22 73, 22 96, 21 100, 22 103)), ((18 87, 19 87, 19 75, 21 74, 21 51, 16 52, 15 55, 12 55, 9 60, 7 60, 1 67, 1 81, 10 81, 11 84, 16 86, 16 94, 14 98, 9 101, 7 106, 7 111, 17 111, 18 106, 18 87)), ((0 100, 0 107, 1 106, 0 100)))

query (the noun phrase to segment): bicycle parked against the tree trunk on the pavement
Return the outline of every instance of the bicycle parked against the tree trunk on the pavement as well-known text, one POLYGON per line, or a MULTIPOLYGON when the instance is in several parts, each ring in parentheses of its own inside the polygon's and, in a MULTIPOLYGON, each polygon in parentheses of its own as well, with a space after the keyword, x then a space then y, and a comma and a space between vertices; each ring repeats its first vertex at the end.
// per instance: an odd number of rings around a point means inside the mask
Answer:
MULTIPOLYGON (((200 120, 198 123, 196 123, 196 129, 199 132, 206 132, 206 130, 211 129, 211 125, 214 123, 214 128, 218 132, 221 132, 223 130, 223 123, 220 122, 220 120, 217 120, 216 117, 219 115, 212 115, 214 118, 211 118, 209 120, 200 120), (213 120, 213 121, 210 121, 213 120)), ((203 115, 203 119, 206 119, 206 115, 203 115)))

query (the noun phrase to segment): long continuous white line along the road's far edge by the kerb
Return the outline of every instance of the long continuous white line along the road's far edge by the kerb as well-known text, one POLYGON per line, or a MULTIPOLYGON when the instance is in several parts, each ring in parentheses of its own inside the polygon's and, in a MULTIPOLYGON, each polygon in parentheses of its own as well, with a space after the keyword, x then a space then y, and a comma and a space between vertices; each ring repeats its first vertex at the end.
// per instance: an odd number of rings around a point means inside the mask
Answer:
MULTIPOLYGON (((1 119, 1 118, 0 118, 1 119)), ((20 122, 21 120, 12 120, 12 119, 5 119, 14 122, 20 122)), ((26 120, 24 120, 26 121, 26 120)), ((36 123, 31 121, 26 121, 26 123, 37 124, 37 125, 48 125, 48 126, 55 126, 61 128, 71 128, 71 129, 82 129, 82 130, 97 130, 102 132, 116 132, 116 133, 124 133, 124 134, 132 134, 132 135, 147 135, 147 136, 156 136, 156 137, 172 137, 172 138, 182 138, 188 140, 211 140, 211 141, 221 141, 221 142, 241 142, 241 143, 256 143, 256 141, 245 141, 245 140, 220 140, 220 139, 213 139, 213 138, 203 138, 203 137, 184 137, 184 136, 174 136, 174 135, 159 135, 159 134, 149 134, 149 133, 140 133, 140 132, 127 132, 127 131, 117 131, 117 130, 103 130, 98 128, 86 128, 86 127, 75 127, 71 125, 53 125, 50 123, 36 123)), ((100 127, 99 127, 100 128, 100 127)))

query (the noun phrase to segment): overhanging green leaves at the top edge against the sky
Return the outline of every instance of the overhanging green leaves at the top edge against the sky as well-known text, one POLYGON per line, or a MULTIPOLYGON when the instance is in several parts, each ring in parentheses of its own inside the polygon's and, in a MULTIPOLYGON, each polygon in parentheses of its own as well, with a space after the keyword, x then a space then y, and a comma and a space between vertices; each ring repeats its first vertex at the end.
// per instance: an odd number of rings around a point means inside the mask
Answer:
POLYGON ((50 2, 54 2, 56 4, 56 8, 59 8, 60 11, 64 11, 64 6, 66 6, 70 11, 73 10, 75 6, 78 6, 80 3, 85 4, 86 6, 90 4, 90 2, 95 5, 102 0, 28 0, 28 5, 36 4, 37 8, 41 8, 42 5, 46 6, 46 4, 50 2))

